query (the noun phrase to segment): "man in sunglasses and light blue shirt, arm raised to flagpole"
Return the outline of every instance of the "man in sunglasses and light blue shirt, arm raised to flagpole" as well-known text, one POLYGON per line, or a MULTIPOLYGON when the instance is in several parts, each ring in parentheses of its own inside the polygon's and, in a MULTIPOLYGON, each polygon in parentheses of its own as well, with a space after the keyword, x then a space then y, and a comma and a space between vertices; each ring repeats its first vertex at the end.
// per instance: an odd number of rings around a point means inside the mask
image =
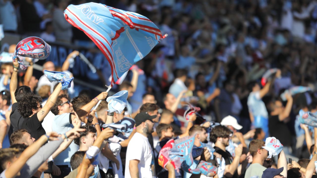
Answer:
MULTIPOLYGON (((78 114, 78 117, 81 118, 89 113, 94 105, 98 103, 98 100, 105 99, 107 97, 107 94, 107 92, 102 92, 93 100, 91 100, 88 104, 82 106, 81 109, 76 112, 78 114)), ((65 94, 58 96, 56 103, 51 111, 53 112, 53 114, 55 114, 54 122, 52 123, 52 130, 58 133, 64 133, 74 128, 72 123, 73 120, 76 118, 76 115, 74 113, 72 103, 69 102, 68 97, 65 94)), ((86 124, 91 125, 91 123, 92 121, 87 121, 86 124)), ((55 165, 61 169, 61 172, 64 172, 64 174, 62 173, 60 177, 65 177, 69 174, 70 158, 78 149, 78 145, 73 142, 65 151, 61 152, 61 154, 54 159, 55 165)))

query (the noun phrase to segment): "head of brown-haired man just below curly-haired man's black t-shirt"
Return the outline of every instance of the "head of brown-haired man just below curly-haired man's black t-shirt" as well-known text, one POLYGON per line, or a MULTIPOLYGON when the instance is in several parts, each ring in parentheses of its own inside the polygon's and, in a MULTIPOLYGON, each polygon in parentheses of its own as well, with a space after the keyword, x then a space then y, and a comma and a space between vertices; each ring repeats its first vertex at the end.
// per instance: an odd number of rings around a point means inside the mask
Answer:
POLYGON ((19 129, 14 131, 10 136, 10 145, 13 144, 24 144, 26 146, 31 145, 34 143, 35 138, 29 134, 28 130, 19 129))

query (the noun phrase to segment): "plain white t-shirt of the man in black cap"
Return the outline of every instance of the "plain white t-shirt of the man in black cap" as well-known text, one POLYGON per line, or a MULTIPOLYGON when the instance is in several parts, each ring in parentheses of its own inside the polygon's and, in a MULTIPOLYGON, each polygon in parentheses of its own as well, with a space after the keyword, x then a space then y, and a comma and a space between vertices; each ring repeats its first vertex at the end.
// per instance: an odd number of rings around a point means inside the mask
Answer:
POLYGON ((131 178, 129 162, 134 159, 140 160, 138 164, 139 176, 141 178, 152 177, 152 148, 148 138, 138 132, 133 135, 126 150, 125 178, 131 178))

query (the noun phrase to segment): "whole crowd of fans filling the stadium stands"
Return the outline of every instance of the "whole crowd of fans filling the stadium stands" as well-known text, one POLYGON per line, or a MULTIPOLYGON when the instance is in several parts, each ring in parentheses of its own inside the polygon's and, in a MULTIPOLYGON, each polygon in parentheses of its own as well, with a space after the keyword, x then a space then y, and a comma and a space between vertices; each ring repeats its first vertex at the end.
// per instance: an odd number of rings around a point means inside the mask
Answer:
MULTIPOLYGON (((159 163, 169 139, 187 136, 195 138, 195 147, 207 143, 215 148, 196 158, 220 160, 213 162, 218 168, 214 177, 316 176, 317 130, 298 118, 301 111, 317 111, 317 1, 95 2, 144 15, 168 37, 112 89, 128 91, 121 114, 107 112, 107 92, 92 96, 81 91, 70 98, 74 83, 61 90, 45 75, 37 79, 31 60, 26 71, 17 61, 2 63, 0 178, 195 177, 159 163), (278 70, 262 85, 263 73, 271 68, 278 70), (281 93, 292 86, 312 91, 286 94, 282 100, 281 93), (187 115, 188 110, 194 112, 187 115), (117 133, 102 130, 102 124, 124 117, 133 118, 135 128, 113 141, 117 133), (268 137, 283 148, 271 159, 262 148, 268 137), (91 146, 100 149, 97 164, 85 156, 91 146)), ((69 4, 82 3, 0 0, 0 24, 5 34, 85 46, 91 41, 63 15, 69 4)), ((13 44, 9 52, 14 49, 13 44)), ((62 59, 62 67, 46 61, 43 71, 72 76, 68 69, 78 54, 62 59)))

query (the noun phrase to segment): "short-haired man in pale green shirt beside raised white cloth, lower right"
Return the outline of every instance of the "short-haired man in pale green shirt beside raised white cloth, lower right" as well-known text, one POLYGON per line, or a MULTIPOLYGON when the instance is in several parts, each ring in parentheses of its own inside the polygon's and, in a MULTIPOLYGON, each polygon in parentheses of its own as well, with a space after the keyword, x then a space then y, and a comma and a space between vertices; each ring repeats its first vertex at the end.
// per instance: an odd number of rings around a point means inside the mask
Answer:
POLYGON ((252 164, 250 164, 249 168, 247 168, 244 177, 252 177, 252 176, 259 176, 261 177, 263 171, 266 167, 263 166, 263 162, 268 157, 268 151, 263 149, 265 142, 263 140, 252 140, 249 144, 249 152, 253 157, 252 164))

